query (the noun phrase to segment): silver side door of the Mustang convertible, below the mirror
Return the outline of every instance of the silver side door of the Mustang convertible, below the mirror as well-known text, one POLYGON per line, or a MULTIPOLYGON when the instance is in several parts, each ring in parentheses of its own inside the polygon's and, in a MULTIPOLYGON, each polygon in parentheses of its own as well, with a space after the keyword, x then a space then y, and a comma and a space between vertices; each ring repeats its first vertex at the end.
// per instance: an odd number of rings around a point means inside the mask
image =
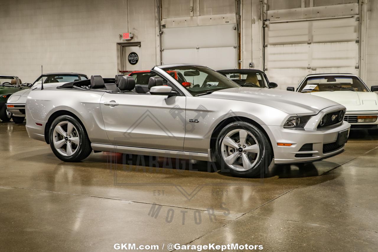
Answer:
POLYGON ((113 145, 182 151, 185 96, 104 93, 101 114, 113 145))

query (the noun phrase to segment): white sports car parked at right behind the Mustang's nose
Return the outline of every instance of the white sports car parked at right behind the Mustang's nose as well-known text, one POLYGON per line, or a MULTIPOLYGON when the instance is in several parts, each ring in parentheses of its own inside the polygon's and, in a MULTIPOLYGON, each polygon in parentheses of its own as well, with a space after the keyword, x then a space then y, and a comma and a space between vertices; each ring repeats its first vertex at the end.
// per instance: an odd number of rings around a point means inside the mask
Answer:
MULTIPOLYGON (((294 91, 294 87, 287 90, 294 91)), ((378 132, 378 86, 371 89, 356 75, 327 73, 307 75, 298 85, 297 92, 321 96, 347 108, 344 121, 351 129, 368 129, 378 132)), ((324 121, 321 122, 325 123, 324 121)))

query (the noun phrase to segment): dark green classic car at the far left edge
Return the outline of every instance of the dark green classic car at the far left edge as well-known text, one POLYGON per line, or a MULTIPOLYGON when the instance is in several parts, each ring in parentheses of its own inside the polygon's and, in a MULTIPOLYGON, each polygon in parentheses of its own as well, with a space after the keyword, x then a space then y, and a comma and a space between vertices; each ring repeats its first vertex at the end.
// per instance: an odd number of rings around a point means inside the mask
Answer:
POLYGON ((0 75, 0 120, 9 121, 12 113, 6 109, 6 101, 12 93, 28 89, 29 84, 23 84, 17 76, 0 75))

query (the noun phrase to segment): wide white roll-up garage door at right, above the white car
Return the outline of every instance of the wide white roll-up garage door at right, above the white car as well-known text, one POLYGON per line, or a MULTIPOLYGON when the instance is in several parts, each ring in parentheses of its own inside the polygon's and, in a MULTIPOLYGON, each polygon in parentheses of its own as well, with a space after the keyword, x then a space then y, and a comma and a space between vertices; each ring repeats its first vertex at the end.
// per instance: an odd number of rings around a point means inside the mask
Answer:
MULTIPOLYGON (((356 12, 358 13, 358 12, 356 12)), ((358 15, 265 23, 265 71, 279 89, 313 73, 358 74, 358 15)))

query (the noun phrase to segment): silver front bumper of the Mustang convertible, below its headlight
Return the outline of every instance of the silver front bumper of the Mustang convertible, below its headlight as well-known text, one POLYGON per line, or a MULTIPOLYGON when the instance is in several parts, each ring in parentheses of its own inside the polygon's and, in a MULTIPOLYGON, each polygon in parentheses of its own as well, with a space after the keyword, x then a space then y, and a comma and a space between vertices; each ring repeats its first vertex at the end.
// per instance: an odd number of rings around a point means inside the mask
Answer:
MULTIPOLYGON (((328 129, 285 129, 283 126, 263 126, 270 132, 274 151, 274 163, 314 162, 335 156, 344 151, 345 144, 337 145, 339 132, 349 130, 350 124, 343 121, 328 129), (290 143, 291 146, 277 146, 290 143), (306 145, 307 144, 307 145, 306 145), (305 148, 307 147, 307 148, 305 148)), ((348 132, 349 134, 349 132, 348 132)))

